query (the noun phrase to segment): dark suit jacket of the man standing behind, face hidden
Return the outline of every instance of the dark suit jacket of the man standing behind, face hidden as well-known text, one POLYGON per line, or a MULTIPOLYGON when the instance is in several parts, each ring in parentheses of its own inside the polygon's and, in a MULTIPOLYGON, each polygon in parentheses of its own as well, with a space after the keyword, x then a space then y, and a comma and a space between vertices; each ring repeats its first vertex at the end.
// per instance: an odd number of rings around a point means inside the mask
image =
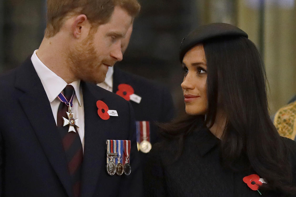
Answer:
POLYGON ((136 121, 150 121, 150 142, 159 141, 158 127, 154 122, 168 122, 174 117, 173 99, 170 91, 151 81, 114 67, 113 92, 118 91, 119 84, 131 85, 136 95, 141 96, 141 102, 130 101, 136 121))

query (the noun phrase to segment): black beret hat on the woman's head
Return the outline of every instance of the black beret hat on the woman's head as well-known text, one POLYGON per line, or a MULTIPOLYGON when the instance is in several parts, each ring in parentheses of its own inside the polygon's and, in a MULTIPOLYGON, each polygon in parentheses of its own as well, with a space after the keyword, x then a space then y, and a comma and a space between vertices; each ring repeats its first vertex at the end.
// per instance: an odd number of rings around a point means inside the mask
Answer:
POLYGON ((210 23, 202 25, 189 33, 189 35, 183 39, 179 54, 180 62, 183 61, 183 57, 187 51, 195 45, 212 38, 224 36, 244 36, 248 38, 248 34, 246 32, 227 23, 210 23))

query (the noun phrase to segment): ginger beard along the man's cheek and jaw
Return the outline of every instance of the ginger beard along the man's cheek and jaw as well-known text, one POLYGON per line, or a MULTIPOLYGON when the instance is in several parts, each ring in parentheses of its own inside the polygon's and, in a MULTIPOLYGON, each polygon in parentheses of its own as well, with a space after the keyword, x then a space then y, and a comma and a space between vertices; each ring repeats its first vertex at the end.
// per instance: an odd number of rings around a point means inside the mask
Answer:
POLYGON ((91 83, 102 83, 106 78, 107 71, 100 69, 102 61, 96 54, 93 40, 91 35, 81 44, 77 44, 69 50, 70 72, 77 79, 91 83))

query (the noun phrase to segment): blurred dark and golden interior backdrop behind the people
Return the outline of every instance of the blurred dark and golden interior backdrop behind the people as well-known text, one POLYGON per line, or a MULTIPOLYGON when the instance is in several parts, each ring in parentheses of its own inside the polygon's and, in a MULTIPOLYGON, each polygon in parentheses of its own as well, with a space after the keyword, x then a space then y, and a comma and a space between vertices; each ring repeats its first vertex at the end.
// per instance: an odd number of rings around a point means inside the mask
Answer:
MULTIPOLYGON (((295 0, 139 1, 130 45, 115 66, 166 85, 178 113, 184 112, 178 61, 182 38, 210 22, 236 25, 257 45, 266 66, 271 114, 296 94, 295 0)), ((46 0, 0 0, 0 73, 38 49, 45 16, 46 0)))

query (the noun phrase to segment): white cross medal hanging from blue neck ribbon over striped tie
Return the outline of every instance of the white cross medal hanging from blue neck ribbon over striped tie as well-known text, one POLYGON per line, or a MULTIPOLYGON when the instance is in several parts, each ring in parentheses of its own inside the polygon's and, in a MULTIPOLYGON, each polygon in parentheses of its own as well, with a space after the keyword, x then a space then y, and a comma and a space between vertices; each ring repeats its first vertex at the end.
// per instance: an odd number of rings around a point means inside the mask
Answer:
POLYGON ((62 117, 63 121, 64 121, 63 127, 69 125, 68 133, 71 132, 71 131, 76 133, 74 126, 79 127, 78 126, 78 118, 74 119, 73 118, 74 113, 71 112, 71 107, 73 107, 74 95, 75 95, 75 92, 73 92, 70 101, 67 101, 67 99, 66 99, 66 97, 64 96, 63 93, 59 93, 59 95, 57 96, 60 101, 62 101, 63 103, 65 103, 68 106, 68 112, 66 112, 67 116, 68 116, 68 119, 65 118, 65 117, 62 117))

